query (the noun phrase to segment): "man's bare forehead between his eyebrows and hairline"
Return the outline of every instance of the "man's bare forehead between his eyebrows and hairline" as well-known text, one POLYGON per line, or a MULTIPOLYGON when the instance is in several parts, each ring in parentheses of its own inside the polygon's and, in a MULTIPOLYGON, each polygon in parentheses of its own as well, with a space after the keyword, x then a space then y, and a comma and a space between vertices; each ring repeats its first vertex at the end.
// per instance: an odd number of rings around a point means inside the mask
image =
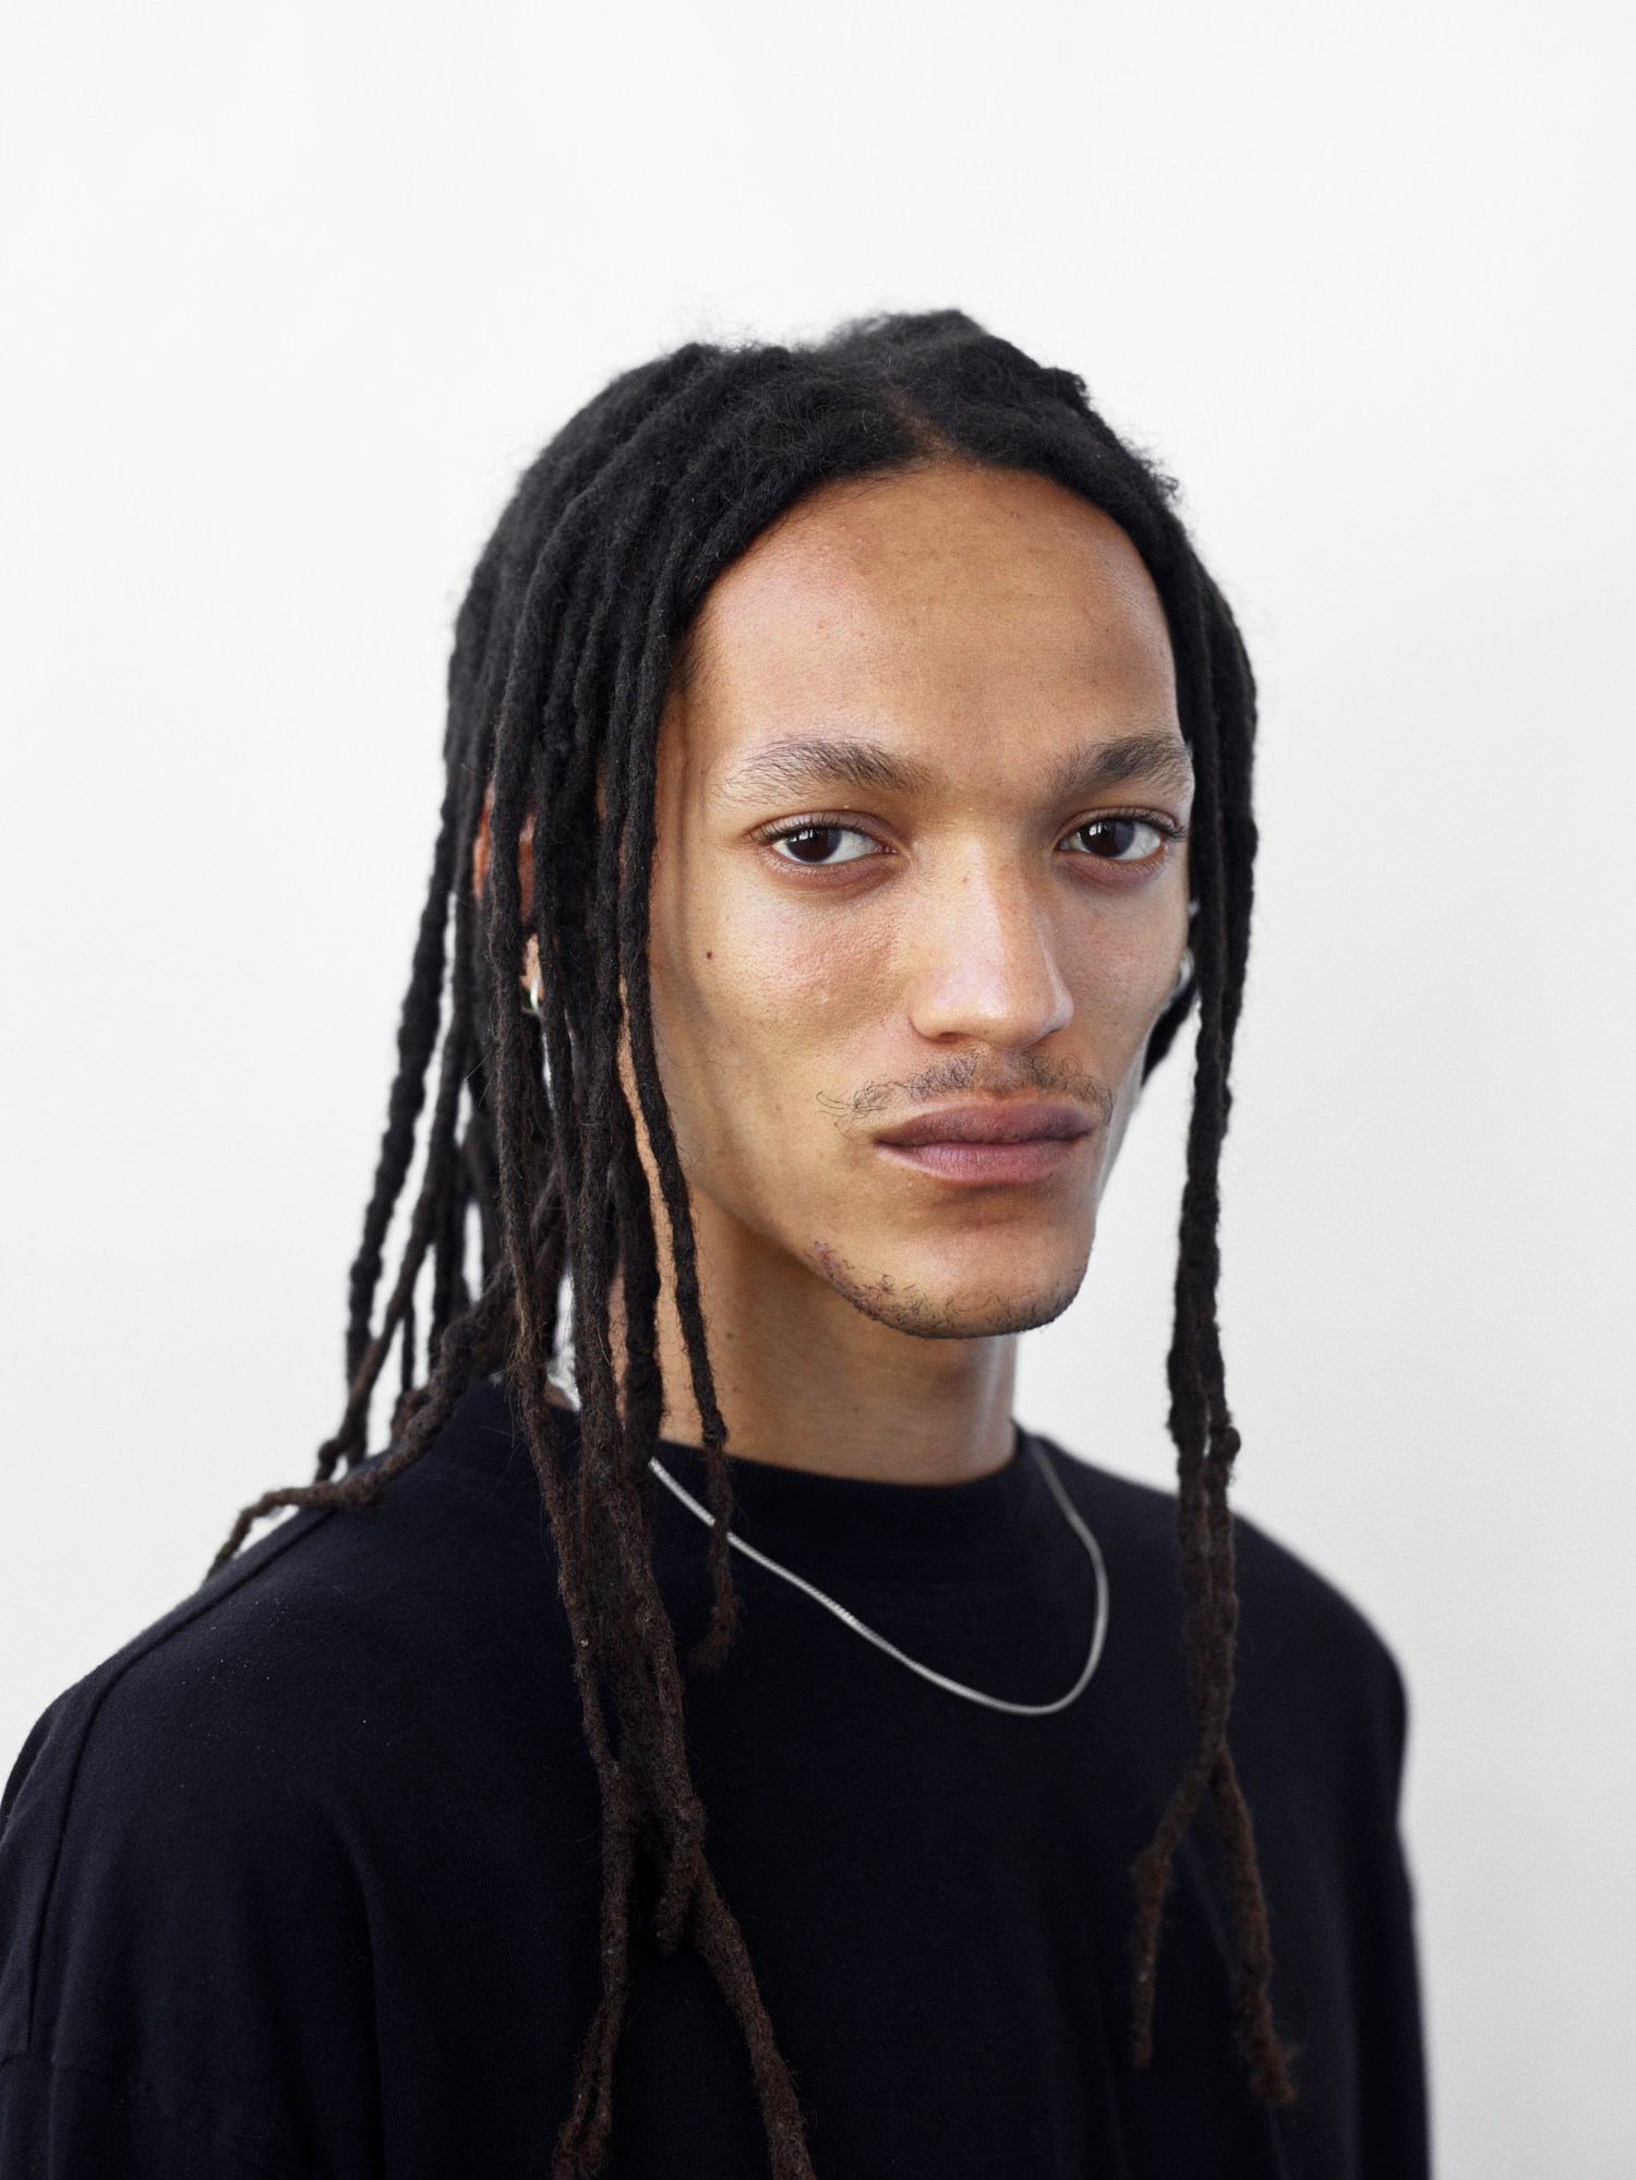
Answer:
POLYGON ((827 484, 711 586, 689 639, 689 772, 849 726, 1027 763, 1176 726, 1169 630, 1126 532, 1049 477, 927 464, 827 484))

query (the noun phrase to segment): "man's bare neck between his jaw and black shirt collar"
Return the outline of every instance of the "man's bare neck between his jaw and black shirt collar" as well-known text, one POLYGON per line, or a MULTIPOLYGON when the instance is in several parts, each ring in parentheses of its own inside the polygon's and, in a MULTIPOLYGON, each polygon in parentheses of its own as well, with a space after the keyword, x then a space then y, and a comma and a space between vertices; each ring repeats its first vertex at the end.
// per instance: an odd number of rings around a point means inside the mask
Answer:
MULTIPOLYGON (((700 1293, 731 1454, 825 1476, 951 1485, 1012 1458, 1017 1336, 914 1339, 696 1199, 700 1293)), ((615 1354, 624 1345, 613 1297, 615 1354)), ((659 1299, 663 1432, 702 1443, 674 1288, 659 1299)))

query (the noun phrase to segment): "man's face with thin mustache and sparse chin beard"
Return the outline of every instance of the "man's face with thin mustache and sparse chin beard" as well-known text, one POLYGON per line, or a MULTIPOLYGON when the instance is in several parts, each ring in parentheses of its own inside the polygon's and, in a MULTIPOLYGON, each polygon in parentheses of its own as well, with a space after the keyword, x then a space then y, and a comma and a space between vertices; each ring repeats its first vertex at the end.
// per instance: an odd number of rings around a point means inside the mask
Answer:
POLYGON ((1056 1317, 1187 944, 1189 802, 1158 595, 1086 501, 934 467, 763 534, 659 739, 654 1025, 707 1264, 934 1339, 1056 1317))

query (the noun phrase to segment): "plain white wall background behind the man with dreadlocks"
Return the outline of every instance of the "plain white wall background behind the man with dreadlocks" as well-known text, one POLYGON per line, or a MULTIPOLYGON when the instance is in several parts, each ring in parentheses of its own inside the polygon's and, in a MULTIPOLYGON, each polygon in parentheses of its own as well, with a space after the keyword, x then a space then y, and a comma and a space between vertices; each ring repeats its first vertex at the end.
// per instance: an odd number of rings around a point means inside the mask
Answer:
MULTIPOLYGON (((1265 685, 1241 1504, 1409 1676, 1440 2169, 1632 2171, 1629 20, 13 20, 4 1757, 334 1421, 517 469, 676 340, 958 303, 1184 480, 1265 685)), ((1025 1343, 1152 1478, 1184 1088, 1025 1343)))

